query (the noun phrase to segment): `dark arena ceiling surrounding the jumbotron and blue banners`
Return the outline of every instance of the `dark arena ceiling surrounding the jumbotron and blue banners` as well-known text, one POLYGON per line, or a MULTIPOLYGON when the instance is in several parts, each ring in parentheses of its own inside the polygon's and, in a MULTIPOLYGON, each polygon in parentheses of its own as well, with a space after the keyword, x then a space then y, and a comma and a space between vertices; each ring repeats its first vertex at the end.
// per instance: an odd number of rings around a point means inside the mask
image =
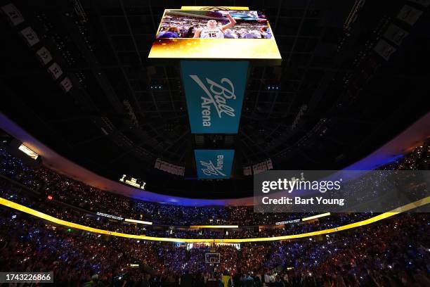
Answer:
POLYGON ((178 65, 148 60, 164 8, 180 8, 177 1, 13 1, 74 88, 65 94, 2 18, 0 111, 97 174, 130 174, 172 196, 250 196, 242 167, 269 158, 278 170, 339 170, 430 108, 428 13, 397 23, 408 37, 386 60, 374 46, 398 11, 416 4, 365 1, 356 9, 359 2, 224 1, 266 13, 282 65, 250 70, 237 135, 199 136, 190 133, 178 65), (234 148, 233 178, 195 180, 196 147, 234 148), (156 170, 157 158, 185 166, 185 178, 156 170))

